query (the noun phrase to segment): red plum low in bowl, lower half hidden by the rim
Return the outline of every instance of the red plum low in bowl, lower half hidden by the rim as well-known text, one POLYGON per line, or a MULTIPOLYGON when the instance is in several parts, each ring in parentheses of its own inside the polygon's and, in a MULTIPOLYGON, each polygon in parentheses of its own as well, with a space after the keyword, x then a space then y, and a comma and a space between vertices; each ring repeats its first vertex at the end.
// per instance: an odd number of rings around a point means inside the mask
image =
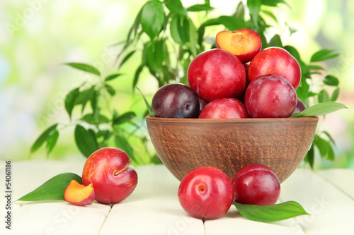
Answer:
POLYGON ((213 100, 205 105, 200 119, 245 119, 249 118, 244 104, 234 98, 213 100))

